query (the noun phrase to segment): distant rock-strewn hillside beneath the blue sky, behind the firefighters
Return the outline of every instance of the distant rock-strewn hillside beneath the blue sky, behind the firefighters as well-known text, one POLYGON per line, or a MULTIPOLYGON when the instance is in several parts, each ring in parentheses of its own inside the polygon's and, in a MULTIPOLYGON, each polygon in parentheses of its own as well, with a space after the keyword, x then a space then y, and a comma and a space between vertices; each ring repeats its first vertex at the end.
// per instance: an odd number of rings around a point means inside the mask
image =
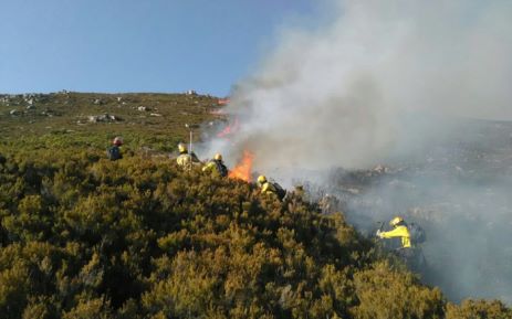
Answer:
POLYGON ((104 149, 122 135, 127 147, 171 150, 185 124, 219 119, 217 98, 192 94, 0 94, 3 145, 104 149))

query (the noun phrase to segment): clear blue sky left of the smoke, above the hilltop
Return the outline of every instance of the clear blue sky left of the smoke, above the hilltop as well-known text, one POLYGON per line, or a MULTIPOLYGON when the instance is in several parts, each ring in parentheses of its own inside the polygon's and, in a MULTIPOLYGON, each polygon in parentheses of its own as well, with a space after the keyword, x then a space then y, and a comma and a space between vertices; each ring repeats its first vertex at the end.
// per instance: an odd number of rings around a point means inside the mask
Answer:
MULTIPOLYGON (((0 0, 0 93, 223 96, 315 0, 0 0)), ((315 13, 316 12, 316 13, 315 13)))

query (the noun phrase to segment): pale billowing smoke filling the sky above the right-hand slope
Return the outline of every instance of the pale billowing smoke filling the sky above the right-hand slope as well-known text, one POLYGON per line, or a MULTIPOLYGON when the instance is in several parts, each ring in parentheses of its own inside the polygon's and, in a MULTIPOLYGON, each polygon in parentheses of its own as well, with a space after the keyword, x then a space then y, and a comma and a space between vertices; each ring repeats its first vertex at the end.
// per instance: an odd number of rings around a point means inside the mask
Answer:
POLYGON ((258 169, 364 167, 437 138, 453 117, 512 119, 512 2, 322 3, 332 21, 281 30, 233 92, 238 145, 258 169))

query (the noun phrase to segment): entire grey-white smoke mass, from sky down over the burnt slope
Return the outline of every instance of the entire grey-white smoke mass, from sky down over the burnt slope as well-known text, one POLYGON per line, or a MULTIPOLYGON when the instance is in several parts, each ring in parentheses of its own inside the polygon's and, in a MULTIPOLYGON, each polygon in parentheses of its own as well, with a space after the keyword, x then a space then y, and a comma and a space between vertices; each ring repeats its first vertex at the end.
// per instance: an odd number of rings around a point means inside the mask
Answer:
POLYGON ((494 130, 504 145, 490 148, 487 126, 468 119, 512 119, 512 2, 322 4, 326 21, 280 30, 233 89, 228 111, 241 128, 223 146, 228 163, 249 149, 259 172, 285 184, 339 167, 407 166, 347 200, 354 220, 409 212, 433 235, 429 283, 453 299, 511 302, 512 130, 494 130))

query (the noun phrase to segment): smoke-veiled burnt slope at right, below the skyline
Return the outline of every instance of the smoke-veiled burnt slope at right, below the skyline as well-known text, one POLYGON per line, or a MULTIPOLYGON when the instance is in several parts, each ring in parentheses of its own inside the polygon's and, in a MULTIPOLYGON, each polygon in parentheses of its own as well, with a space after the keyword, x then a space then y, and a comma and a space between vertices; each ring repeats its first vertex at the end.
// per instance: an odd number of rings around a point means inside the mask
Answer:
POLYGON ((369 170, 334 170, 324 190, 368 236, 396 214, 426 228, 421 273, 454 301, 512 304, 512 123, 466 120, 448 138, 369 170))

